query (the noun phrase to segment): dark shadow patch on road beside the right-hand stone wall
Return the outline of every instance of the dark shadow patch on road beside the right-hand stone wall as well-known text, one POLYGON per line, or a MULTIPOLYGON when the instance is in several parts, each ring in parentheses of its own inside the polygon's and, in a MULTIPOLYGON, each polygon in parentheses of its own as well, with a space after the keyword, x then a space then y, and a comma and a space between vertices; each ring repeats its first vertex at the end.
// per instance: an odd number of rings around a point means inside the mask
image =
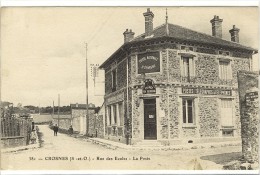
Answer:
POLYGON ((224 165, 228 162, 239 160, 242 156, 241 152, 214 154, 208 156, 202 156, 200 159, 215 162, 216 164, 224 165))

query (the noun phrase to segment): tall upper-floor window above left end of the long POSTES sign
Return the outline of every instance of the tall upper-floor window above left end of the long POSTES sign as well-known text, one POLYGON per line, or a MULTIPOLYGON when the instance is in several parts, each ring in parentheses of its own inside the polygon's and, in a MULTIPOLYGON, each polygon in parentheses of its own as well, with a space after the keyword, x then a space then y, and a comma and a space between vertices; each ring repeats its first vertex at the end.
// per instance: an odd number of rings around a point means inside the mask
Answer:
POLYGON ((194 60, 192 57, 182 57, 181 60, 182 71, 181 75, 189 82, 194 77, 194 60))

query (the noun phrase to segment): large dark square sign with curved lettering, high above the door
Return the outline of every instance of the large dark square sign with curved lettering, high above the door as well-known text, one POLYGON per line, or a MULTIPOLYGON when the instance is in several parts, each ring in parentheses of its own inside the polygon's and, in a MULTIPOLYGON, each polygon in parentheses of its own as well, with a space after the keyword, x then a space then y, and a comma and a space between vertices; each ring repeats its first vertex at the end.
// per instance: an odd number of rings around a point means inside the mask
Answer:
POLYGON ((160 72, 160 52, 147 52, 137 57, 138 74, 160 72))

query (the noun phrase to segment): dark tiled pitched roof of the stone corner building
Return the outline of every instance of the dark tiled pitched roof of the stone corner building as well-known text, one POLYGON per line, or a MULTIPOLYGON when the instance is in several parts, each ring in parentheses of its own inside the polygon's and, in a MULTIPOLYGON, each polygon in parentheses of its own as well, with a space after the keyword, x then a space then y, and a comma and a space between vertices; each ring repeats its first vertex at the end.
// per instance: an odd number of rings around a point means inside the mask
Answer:
MULTIPOLYGON (((191 29, 179 26, 179 25, 175 25, 175 24, 168 23, 168 31, 169 31, 168 36, 176 38, 176 39, 257 51, 254 48, 243 46, 236 42, 227 41, 227 40, 224 40, 221 38, 217 38, 217 37, 205 34, 205 33, 197 32, 197 31, 194 31, 194 30, 191 30, 191 29)), ((158 37, 163 37, 163 36, 167 36, 166 24, 163 24, 163 25, 155 28, 152 32, 151 37, 148 37, 148 38, 158 38, 158 37)), ((146 39, 145 34, 141 34, 132 41, 141 41, 141 40, 145 40, 145 39, 146 39)))

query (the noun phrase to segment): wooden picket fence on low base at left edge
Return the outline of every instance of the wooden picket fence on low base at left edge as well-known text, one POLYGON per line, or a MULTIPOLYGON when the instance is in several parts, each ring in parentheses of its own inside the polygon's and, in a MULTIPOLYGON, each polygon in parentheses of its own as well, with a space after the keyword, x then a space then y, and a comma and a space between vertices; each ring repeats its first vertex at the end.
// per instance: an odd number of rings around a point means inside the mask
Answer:
POLYGON ((10 115, 1 116, 1 144, 3 147, 24 146, 30 143, 31 119, 10 115))

